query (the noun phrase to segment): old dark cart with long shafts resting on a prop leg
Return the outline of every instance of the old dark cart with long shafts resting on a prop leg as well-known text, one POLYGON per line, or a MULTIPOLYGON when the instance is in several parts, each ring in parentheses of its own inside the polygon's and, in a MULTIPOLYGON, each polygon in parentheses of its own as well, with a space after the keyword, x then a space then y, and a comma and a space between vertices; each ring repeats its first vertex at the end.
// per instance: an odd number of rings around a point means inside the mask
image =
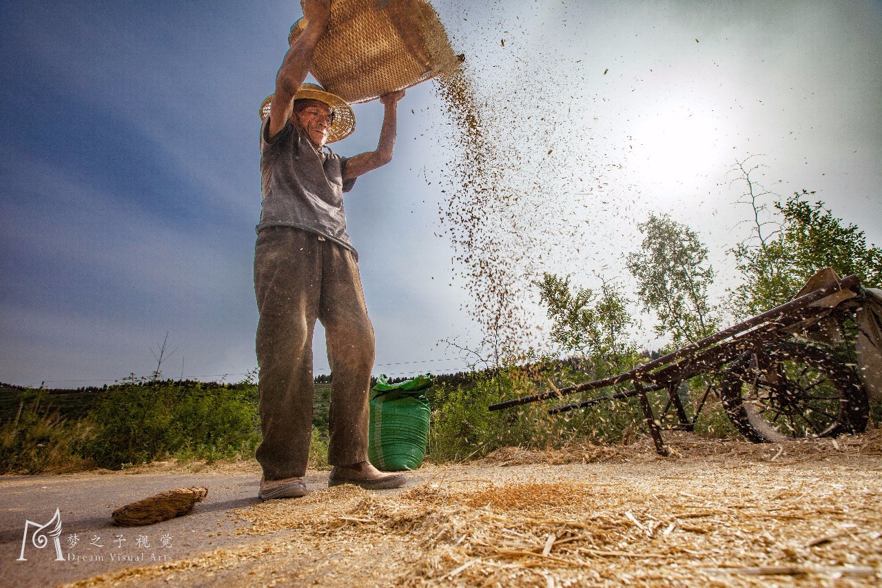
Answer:
POLYGON ((842 357, 841 346, 815 340, 841 341, 845 325, 856 324, 865 294, 856 275, 839 279, 827 269, 787 304, 629 372, 495 403, 489 410, 630 383, 631 389, 557 406, 549 413, 637 396, 655 448, 665 456, 669 448, 662 439, 662 426, 691 431, 712 390, 732 424, 750 441, 860 433, 867 426, 870 405, 856 364, 842 357), (815 287, 818 284, 823 285, 815 287), (706 389, 691 406, 690 416, 679 391, 684 382, 701 375, 706 389), (656 414, 647 395, 662 390, 667 404, 656 414))

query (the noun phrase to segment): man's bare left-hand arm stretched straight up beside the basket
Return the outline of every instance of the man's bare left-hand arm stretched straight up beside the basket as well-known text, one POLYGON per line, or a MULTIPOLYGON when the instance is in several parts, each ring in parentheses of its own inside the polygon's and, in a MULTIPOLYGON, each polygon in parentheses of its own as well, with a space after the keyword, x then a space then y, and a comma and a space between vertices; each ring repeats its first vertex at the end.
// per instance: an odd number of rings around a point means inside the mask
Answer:
POLYGON ((274 137, 291 117, 294 94, 300 89, 312 65, 318 38, 325 33, 331 16, 331 0, 303 0, 306 29, 297 37, 276 74, 276 91, 270 106, 269 135, 274 137))

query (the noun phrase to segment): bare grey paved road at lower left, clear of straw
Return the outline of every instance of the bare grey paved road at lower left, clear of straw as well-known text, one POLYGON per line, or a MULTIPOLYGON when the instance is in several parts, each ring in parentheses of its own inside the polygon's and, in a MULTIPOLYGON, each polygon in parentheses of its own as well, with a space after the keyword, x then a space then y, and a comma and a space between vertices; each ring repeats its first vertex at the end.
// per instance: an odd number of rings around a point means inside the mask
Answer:
MULTIPOLYGON (((326 478, 327 472, 310 471, 307 486, 324 487, 326 478)), ((258 502, 258 481, 255 473, 0 476, 0 584, 54 586, 265 539, 236 535, 235 516, 228 514, 258 502), (123 504, 189 486, 208 488, 206 500, 197 503, 190 515, 143 527, 119 527, 110 519, 110 513, 123 504), (64 561, 56 561, 53 541, 38 549, 31 537, 25 541, 26 561, 19 561, 26 520, 46 524, 56 509, 62 520, 58 539, 64 561)))

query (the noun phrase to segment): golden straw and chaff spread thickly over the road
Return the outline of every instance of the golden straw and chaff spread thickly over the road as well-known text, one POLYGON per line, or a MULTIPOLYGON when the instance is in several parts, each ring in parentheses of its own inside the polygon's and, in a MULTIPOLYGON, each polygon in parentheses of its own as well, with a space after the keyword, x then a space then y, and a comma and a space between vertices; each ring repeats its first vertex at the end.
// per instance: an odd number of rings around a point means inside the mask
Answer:
POLYGON ((647 440, 506 449, 426 466, 403 492, 265 502, 233 513, 263 539, 81 585, 878 585, 882 433, 670 437, 675 457, 647 440))

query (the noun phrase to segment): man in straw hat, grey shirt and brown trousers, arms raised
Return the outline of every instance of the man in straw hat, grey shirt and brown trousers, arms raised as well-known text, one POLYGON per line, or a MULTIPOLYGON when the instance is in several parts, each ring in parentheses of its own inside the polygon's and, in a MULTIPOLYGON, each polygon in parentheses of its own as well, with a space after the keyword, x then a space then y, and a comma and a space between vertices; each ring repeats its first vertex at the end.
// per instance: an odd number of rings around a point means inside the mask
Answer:
POLYGON ((374 331, 364 305, 357 253, 346 232, 343 192, 355 178, 385 165, 395 144, 396 107, 404 92, 380 99, 385 108, 377 150, 351 158, 325 153, 355 126, 346 102, 315 84, 303 84, 329 0, 304 0, 308 21, 276 77, 269 116, 261 128, 263 202, 254 253, 260 320, 262 500, 306 494, 303 474, 312 433, 312 331, 325 326, 332 378, 328 486, 385 489, 401 474, 367 461, 368 389, 374 331))

